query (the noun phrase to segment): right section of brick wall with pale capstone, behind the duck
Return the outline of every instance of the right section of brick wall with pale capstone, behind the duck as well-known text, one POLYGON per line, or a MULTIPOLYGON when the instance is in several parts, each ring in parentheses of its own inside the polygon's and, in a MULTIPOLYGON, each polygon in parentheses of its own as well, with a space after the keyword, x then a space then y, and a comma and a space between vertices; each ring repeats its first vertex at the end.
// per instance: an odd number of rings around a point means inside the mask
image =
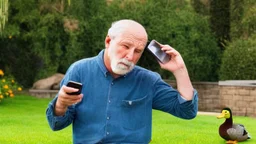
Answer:
POLYGON ((228 106, 234 115, 256 117, 256 81, 219 82, 220 106, 228 106))

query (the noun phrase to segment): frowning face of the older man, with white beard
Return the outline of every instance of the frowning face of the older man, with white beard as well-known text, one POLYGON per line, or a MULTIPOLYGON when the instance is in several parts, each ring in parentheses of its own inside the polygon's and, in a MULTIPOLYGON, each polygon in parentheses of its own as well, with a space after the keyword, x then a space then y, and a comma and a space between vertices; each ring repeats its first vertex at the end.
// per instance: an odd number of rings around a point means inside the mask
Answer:
POLYGON ((108 57, 115 74, 130 72, 139 61, 145 48, 146 39, 131 34, 123 34, 110 41, 108 57))

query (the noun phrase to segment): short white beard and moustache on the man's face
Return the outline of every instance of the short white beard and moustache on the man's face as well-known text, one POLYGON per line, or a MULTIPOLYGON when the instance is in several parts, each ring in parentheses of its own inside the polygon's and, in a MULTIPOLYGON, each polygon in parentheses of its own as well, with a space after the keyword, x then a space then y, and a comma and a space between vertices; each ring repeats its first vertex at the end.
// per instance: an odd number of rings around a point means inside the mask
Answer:
POLYGON ((130 72, 135 66, 133 62, 130 62, 125 58, 117 59, 111 51, 109 51, 108 56, 111 59, 111 69, 115 74, 125 75, 130 72))

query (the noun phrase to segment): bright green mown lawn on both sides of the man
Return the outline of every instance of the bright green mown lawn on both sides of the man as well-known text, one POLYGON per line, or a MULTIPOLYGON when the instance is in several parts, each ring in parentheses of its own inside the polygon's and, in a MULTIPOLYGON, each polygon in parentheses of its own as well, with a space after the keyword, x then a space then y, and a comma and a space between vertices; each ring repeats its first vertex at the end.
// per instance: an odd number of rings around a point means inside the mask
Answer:
MULTIPOLYGON (((17 95, 0 103, 0 143, 4 144, 71 144, 71 126, 53 132, 47 123, 45 109, 51 99, 17 95)), ((198 115, 182 120, 169 114, 153 111, 152 144, 224 144, 218 127, 224 119, 198 115)), ((255 118, 234 117, 252 137, 256 136, 255 118)), ((243 142, 256 143, 254 139, 243 142)))

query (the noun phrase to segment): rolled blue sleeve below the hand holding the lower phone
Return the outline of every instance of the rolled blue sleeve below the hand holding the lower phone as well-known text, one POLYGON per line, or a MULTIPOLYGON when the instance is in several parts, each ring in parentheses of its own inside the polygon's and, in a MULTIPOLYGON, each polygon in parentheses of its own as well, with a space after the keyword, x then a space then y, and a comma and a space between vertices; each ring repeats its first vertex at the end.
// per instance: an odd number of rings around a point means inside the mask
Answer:
POLYGON ((57 96, 49 103, 46 110, 46 117, 49 123, 49 126, 52 130, 57 131, 69 126, 74 119, 74 106, 68 107, 65 115, 56 116, 54 114, 54 106, 57 101, 57 96))

